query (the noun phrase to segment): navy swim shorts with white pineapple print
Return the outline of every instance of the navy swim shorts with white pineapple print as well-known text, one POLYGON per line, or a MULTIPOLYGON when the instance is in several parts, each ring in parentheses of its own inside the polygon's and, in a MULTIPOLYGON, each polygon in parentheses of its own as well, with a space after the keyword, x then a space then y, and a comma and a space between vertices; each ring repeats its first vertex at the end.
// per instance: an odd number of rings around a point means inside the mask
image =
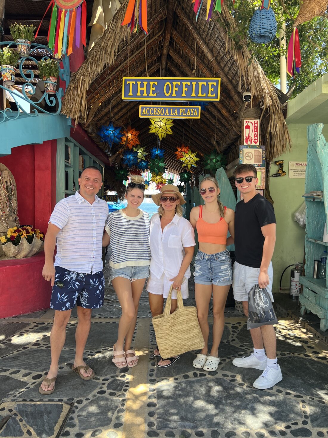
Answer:
POLYGON ((104 304, 105 279, 102 271, 83 274, 56 266, 50 307, 71 310, 75 305, 97 309, 104 304))

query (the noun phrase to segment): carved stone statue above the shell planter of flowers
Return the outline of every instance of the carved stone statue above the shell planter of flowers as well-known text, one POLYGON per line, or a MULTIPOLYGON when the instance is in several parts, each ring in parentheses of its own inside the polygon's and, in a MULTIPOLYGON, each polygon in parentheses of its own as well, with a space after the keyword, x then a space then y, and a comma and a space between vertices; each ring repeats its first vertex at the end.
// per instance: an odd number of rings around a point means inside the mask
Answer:
POLYGON ((19 226, 17 187, 13 174, 0 163, 0 236, 14 226, 19 226))

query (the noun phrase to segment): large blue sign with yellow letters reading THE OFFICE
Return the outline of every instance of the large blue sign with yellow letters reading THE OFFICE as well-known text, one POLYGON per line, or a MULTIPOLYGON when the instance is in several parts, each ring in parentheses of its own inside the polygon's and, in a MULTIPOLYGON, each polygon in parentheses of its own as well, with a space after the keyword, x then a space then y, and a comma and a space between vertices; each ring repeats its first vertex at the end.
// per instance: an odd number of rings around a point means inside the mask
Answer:
POLYGON ((220 78, 123 78, 123 100, 220 100, 220 78))

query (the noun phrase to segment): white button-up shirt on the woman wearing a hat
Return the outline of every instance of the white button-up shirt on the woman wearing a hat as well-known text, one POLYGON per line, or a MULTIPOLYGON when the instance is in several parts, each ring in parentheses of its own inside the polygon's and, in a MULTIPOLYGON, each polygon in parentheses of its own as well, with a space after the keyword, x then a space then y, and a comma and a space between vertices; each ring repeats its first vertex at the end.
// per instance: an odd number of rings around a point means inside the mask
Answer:
MULTIPOLYGON (((175 214, 172 221, 161 229, 160 215, 150 219, 150 273, 160 279, 164 273, 167 279, 178 275, 185 251, 183 247, 195 246, 195 232, 190 222, 175 214)), ((185 278, 190 278, 190 266, 185 278)))

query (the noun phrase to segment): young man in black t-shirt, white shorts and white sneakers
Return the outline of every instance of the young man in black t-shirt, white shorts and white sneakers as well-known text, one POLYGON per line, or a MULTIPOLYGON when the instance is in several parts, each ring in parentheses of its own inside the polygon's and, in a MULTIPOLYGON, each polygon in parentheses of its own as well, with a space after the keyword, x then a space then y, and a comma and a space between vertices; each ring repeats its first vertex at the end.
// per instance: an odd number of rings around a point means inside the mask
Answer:
MULTIPOLYGON (((236 205, 235 212, 235 262, 233 266, 234 299, 242 301, 244 314, 248 316, 248 293, 258 285, 272 297, 271 258, 276 243, 276 217, 272 205, 256 192, 257 172, 251 164, 241 164, 234 171, 236 187, 243 200, 236 205)), ((261 297, 266 300, 265 295, 261 297)), ((262 325, 251 329, 254 353, 236 358, 236 367, 263 370, 253 386, 268 389, 282 378, 277 364, 276 333, 273 325, 262 325), (267 356, 265 356, 265 350, 267 356)))

